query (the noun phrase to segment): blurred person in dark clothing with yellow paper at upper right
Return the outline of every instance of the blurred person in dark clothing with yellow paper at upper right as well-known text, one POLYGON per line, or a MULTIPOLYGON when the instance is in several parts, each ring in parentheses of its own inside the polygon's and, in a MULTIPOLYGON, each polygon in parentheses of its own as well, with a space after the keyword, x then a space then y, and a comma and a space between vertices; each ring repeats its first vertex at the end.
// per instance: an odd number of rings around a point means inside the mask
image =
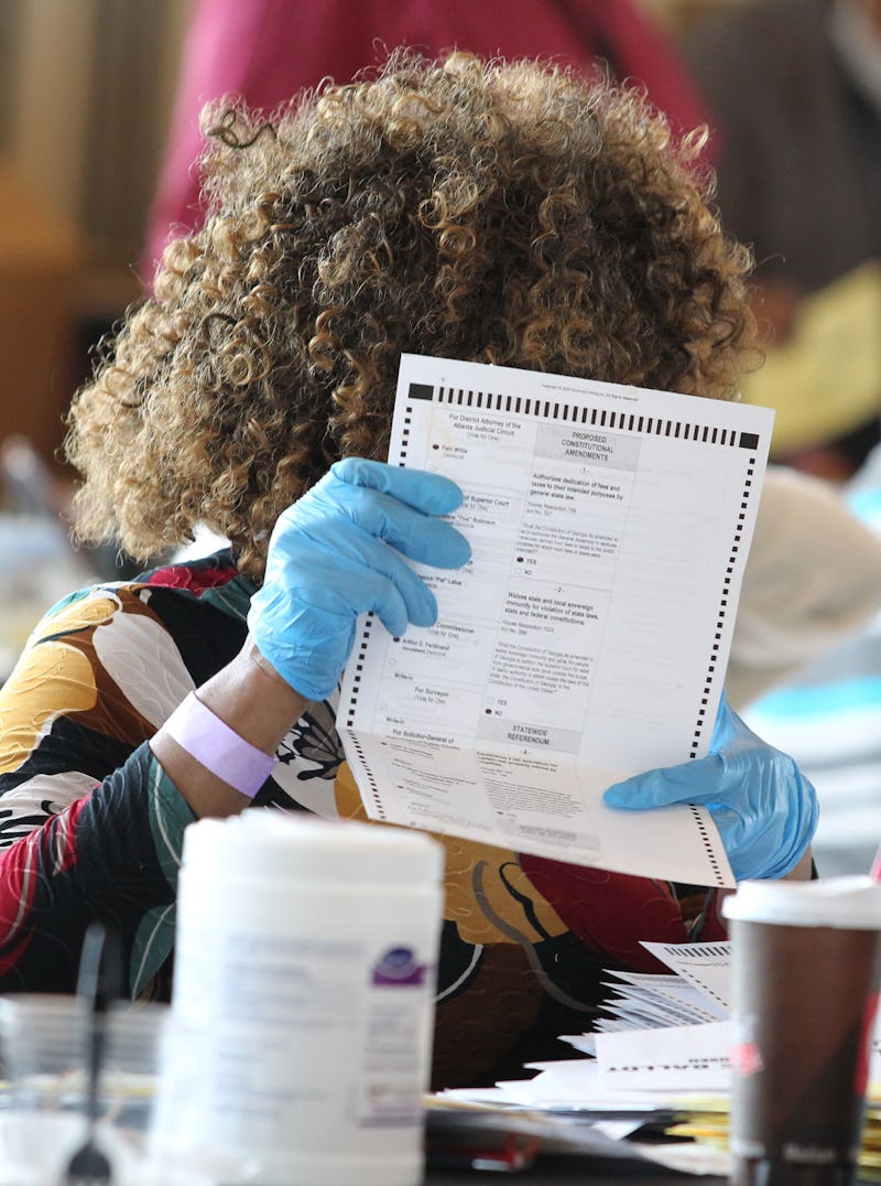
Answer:
POLYGON ((722 223, 755 253, 770 363, 806 299, 861 273, 864 332, 842 314, 823 346, 824 406, 807 406, 807 384, 785 391, 775 429, 790 435, 777 460, 844 482, 877 442, 881 409, 881 0, 740 0, 679 49, 711 113, 722 223))

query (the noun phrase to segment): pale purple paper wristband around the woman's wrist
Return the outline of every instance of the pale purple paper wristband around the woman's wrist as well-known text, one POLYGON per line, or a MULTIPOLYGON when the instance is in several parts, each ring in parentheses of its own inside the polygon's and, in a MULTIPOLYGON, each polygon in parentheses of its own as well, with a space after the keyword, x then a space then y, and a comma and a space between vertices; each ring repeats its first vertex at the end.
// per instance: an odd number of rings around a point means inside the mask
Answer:
POLYGON ((162 726, 170 738, 242 795, 253 799, 279 763, 257 750, 202 703, 194 691, 184 697, 162 726))

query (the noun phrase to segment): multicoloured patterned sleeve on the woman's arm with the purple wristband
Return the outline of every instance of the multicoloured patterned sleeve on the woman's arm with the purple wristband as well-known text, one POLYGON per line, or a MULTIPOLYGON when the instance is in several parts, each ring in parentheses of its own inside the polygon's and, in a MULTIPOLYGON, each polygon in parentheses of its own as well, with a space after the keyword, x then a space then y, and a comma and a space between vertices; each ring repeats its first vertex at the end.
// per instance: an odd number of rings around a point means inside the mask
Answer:
POLYGON ((34 631, 0 689, 0 991, 74 991, 95 919, 121 931, 133 993, 171 950, 193 814, 147 746, 155 725, 96 645, 102 630, 152 704, 155 687, 173 707, 189 678, 135 586, 90 591, 34 631))

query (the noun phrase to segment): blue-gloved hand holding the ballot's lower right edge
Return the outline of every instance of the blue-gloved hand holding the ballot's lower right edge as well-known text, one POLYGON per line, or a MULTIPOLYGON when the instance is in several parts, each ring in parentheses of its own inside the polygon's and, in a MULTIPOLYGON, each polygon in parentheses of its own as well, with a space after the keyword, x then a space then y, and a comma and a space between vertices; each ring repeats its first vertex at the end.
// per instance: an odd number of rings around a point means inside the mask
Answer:
POLYGON ((615 783, 602 801, 638 811, 703 804, 739 881, 784 876, 798 865, 817 828, 817 793, 794 760, 752 733, 724 696, 706 758, 615 783))

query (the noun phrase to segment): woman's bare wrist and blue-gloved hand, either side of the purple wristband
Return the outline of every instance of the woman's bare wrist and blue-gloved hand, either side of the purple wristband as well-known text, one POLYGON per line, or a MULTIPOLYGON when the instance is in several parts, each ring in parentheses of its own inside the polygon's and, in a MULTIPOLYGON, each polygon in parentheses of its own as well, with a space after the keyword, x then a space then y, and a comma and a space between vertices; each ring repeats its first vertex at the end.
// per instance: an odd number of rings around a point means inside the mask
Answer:
MULTIPOLYGON (((274 754, 306 704, 337 687, 359 613, 376 612, 394 635, 435 620, 434 595, 402 557, 464 565, 468 544, 440 517, 460 502, 459 487, 438 474, 359 458, 333 465, 279 518, 251 633, 197 699, 248 746, 274 754)), ((151 746, 196 815, 247 806, 179 734, 160 729, 151 746)))

